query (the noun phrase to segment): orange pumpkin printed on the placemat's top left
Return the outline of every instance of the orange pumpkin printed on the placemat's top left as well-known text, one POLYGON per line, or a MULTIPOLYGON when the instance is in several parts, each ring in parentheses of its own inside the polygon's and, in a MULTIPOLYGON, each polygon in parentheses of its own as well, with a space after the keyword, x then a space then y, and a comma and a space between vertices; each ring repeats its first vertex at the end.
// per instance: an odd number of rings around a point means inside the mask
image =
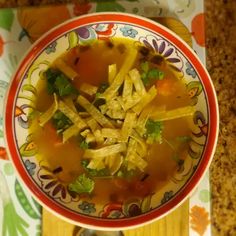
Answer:
POLYGON ((71 18, 66 5, 19 8, 17 17, 23 28, 19 40, 27 36, 30 42, 34 42, 54 26, 71 18))

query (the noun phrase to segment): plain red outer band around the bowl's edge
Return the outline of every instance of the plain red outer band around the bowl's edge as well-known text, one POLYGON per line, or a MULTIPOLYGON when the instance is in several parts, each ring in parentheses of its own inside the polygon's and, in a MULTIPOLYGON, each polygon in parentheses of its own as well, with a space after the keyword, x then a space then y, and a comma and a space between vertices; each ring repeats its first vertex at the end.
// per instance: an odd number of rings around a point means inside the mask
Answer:
POLYGON ((120 230, 130 229, 138 227, 154 220, 157 220, 166 214, 176 209, 182 204, 189 195, 195 190, 198 183, 203 178, 207 171, 215 153, 217 138, 219 133, 219 108, 217 103, 217 96, 214 90, 211 78, 205 69, 200 59, 196 56, 192 48, 182 40, 178 35, 164 27, 163 25, 150 20, 148 18, 118 12, 100 12, 90 13, 76 18, 72 18, 64 23, 52 28, 46 34, 41 36, 31 47, 26 54, 22 57, 22 60, 18 64, 17 70, 12 77, 9 85, 8 93, 5 97, 5 116, 4 116, 4 138, 6 141, 6 149, 9 154, 10 160, 16 170, 16 174, 30 191, 30 193, 50 212, 56 214, 60 218, 69 221, 72 224, 80 225, 82 227, 94 228, 94 229, 106 229, 106 230, 120 230), (206 142, 206 148, 202 154, 202 160, 198 164, 198 170, 188 179, 178 194, 166 204, 152 210, 145 214, 141 214, 136 217, 124 218, 124 219, 104 219, 93 216, 86 216, 70 211, 59 205, 51 198, 47 197, 46 193, 43 193, 39 186, 33 182, 29 174, 26 172, 23 162, 20 160, 15 147, 17 146, 16 140, 14 140, 14 104, 16 101, 16 92, 18 90, 18 84, 22 81, 22 75, 27 71, 35 56, 38 56, 49 42, 52 42, 55 38, 64 35, 68 31, 72 31, 80 26, 91 25, 95 23, 116 22, 123 24, 134 24, 142 26, 150 31, 158 32, 168 40, 170 40, 183 55, 188 58, 191 64, 194 65, 199 75, 200 80, 204 86, 207 97, 207 107, 209 109, 209 130, 206 142), (204 159, 204 160, 203 160, 204 159))

